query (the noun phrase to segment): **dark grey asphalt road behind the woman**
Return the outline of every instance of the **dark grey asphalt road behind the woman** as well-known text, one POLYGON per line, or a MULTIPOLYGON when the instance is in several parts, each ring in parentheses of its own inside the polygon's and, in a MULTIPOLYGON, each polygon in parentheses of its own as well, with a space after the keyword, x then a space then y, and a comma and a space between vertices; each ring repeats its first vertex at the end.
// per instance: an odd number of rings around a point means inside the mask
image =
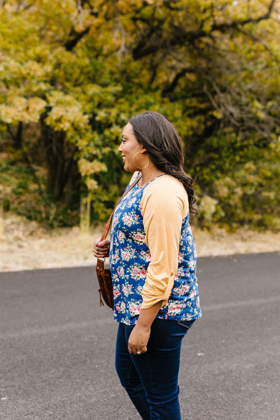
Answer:
MULTIPOLYGON (((280 419, 280 254, 200 258, 182 420, 280 419)), ((94 267, 0 273, 0 419, 140 419, 114 370, 94 267)))

